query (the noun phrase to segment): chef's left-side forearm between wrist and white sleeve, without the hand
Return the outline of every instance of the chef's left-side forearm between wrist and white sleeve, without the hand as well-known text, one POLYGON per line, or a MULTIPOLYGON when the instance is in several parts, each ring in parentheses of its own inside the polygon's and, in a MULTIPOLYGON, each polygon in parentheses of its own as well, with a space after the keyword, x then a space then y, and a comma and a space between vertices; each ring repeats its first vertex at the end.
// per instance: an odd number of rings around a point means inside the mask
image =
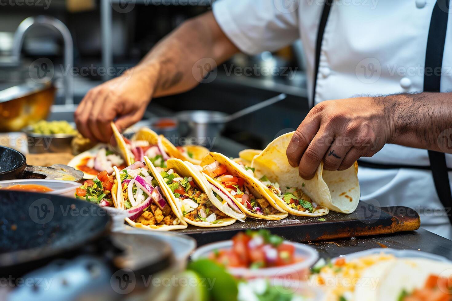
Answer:
POLYGON ((207 67, 214 65, 208 64, 209 59, 221 64, 236 52, 238 49, 209 12, 176 28, 151 49, 132 72, 139 70, 144 80, 153 85, 152 97, 182 93, 200 83, 201 70, 206 75, 207 67), (200 62, 202 68, 199 69, 195 65, 202 59, 205 62, 200 62))

